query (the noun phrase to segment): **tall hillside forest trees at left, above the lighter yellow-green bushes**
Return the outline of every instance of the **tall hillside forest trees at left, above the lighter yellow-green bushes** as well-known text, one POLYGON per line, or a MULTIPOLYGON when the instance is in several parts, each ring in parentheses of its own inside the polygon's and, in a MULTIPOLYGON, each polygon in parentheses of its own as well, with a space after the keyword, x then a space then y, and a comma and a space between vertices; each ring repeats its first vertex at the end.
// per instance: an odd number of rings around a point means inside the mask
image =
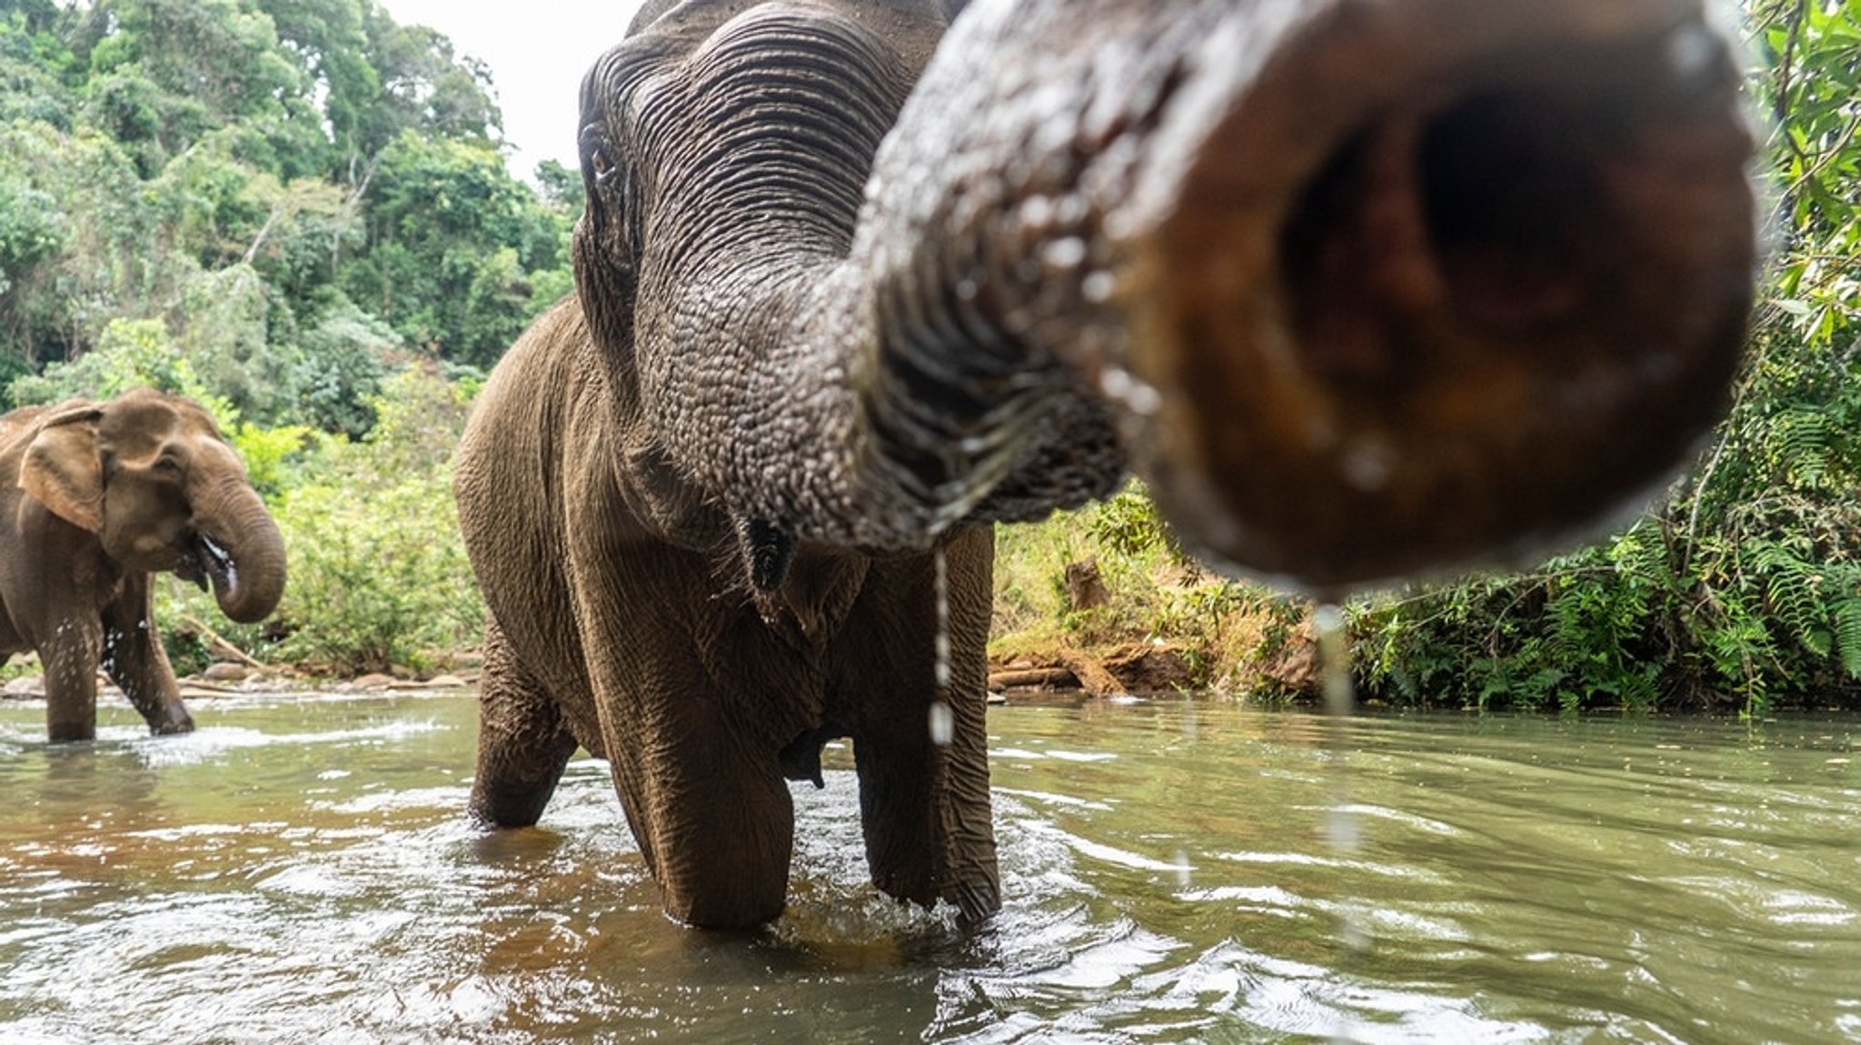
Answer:
POLYGON ((488 69, 372 0, 6 0, 4 405, 151 337, 246 420, 355 435, 408 359, 488 368, 571 288, 581 206, 499 121, 488 69))

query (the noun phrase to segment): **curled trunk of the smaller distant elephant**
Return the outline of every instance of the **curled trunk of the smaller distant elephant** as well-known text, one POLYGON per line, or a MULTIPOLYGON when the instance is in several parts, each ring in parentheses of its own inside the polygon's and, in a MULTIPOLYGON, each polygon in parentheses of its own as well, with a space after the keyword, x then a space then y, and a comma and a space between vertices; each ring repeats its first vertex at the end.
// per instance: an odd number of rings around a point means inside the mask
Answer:
POLYGON ((195 502, 195 543, 227 619, 262 621, 285 593, 285 539, 244 482, 225 480, 195 502))

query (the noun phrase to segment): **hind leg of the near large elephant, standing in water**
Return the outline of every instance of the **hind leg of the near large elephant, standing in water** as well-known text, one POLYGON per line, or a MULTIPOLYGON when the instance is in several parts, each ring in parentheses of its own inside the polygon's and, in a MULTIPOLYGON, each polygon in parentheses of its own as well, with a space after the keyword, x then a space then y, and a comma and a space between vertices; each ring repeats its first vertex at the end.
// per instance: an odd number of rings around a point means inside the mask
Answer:
POLYGON ((517 662, 497 623, 486 623, 471 814, 493 827, 536 824, 573 753, 555 697, 517 662))

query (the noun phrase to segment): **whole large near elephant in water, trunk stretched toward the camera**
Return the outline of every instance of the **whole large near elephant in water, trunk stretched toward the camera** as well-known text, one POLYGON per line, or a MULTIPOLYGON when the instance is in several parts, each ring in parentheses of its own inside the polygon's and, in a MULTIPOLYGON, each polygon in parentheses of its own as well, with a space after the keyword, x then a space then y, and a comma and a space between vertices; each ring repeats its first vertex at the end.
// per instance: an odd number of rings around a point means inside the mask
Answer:
POLYGON ((1738 87, 1697 0, 649 0, 460 448, 475 813, 579 742, 750 924, 849 734, 877 885, 988 913, 986 526, 1135 470, 1338 591, 1632 504, 1738 359, 1738 87))

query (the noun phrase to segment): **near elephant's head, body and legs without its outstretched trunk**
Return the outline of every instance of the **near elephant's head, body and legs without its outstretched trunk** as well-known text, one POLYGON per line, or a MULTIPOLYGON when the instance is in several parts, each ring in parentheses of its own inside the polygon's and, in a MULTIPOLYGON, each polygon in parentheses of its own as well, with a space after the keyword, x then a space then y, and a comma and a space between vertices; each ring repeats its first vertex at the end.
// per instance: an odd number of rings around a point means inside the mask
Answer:
POLYGON ((581 744, 610 761, 668 913, 754 924, 787 891, 783 777, 817 777, 821 744, 850 736, 875 883, 981 917, 999 902, 983 733, 992 536, 949 526, 934 552, 864 554, 821 543, 782 500, 733 511, 718 469, 761 467, 763 452, 741 437, 700 450, 705 433, 754 431, 791 476, 826 467, 804 422, 752 407, 769 396, 754 385, 793 383, 791 363, 754 346, 797 311, 711 314, 681 294, 724 281, 728 299, 756 301, 845 255, 871 152, 944 17, 862 4, 730 20, 739 7, 685 4, 659 22, 649 7, 590 73, 581 294, 512 348, 460 448, 460 517, 493 617, 473 809, 534 822, 581 744), (938 699, 947 746, 930 738, 938 699))

